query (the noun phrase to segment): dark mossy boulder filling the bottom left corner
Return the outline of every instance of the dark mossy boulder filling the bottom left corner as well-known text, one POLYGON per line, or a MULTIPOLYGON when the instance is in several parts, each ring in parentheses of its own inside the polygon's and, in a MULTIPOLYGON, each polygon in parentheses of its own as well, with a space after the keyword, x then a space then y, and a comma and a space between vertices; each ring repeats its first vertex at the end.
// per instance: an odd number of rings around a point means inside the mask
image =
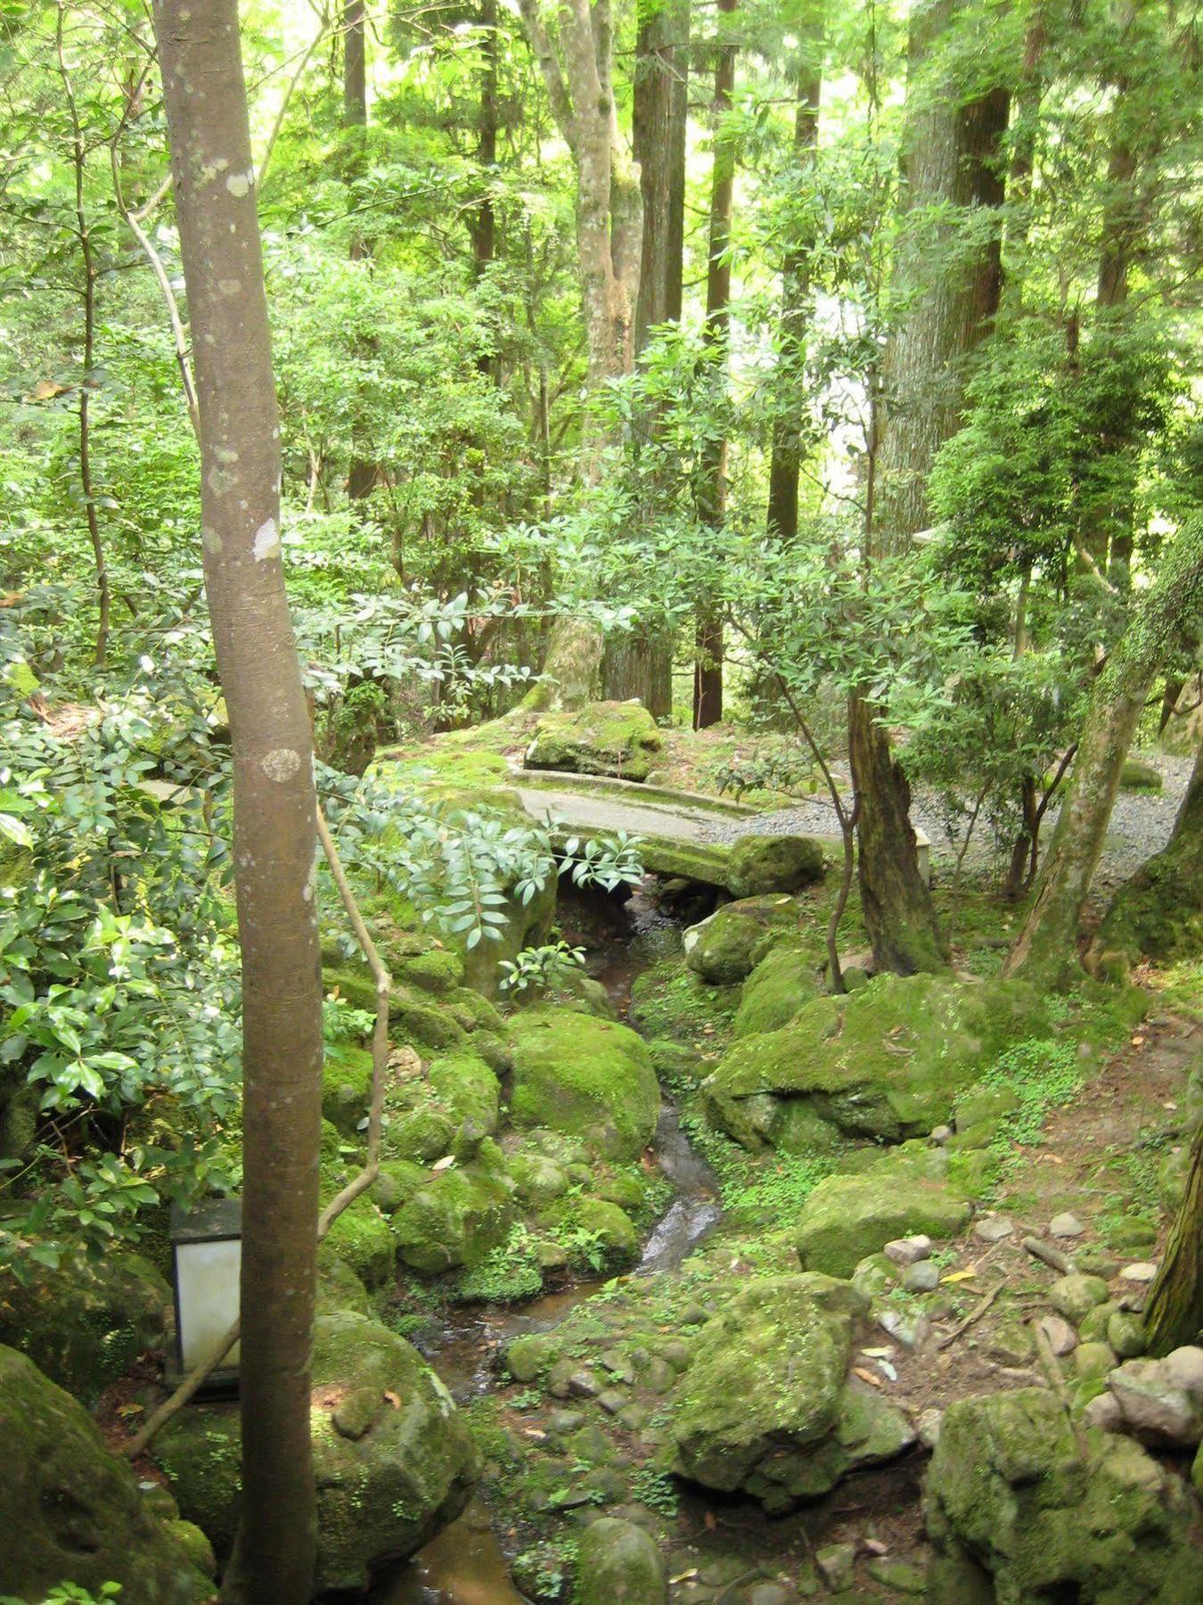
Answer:
POLYGON ((2 1347, 0 1433, 0 1592, 38 1605, 58 1583, 120 1583, 124 1605, 212 1597, 197 1534, 156 1515, 83 1406, 2 1347))

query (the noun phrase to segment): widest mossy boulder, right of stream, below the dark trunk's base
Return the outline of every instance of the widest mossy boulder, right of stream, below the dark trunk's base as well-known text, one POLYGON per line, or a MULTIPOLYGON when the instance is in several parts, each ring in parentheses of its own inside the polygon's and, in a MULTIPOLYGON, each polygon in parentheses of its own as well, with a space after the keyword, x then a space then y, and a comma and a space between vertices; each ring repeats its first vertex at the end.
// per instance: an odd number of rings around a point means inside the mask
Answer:
POLYGON ((1022 981, 879 976, 736 1042, 706 1083, 707 1109, 736 1141, 747 1140, 739 1104, 765 1095, 804 1099, 852 1136, 919 1136, 950 1119, 958 1091, 1003 1048, 1044 1030, 1044 1002, 1022 981))

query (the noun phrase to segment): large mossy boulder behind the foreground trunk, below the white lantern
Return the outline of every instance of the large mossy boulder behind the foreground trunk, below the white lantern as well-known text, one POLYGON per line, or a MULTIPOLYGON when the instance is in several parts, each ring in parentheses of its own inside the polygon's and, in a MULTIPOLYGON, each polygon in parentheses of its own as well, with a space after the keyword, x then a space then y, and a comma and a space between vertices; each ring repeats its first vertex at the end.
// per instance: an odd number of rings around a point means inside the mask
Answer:
MULTIPOLYGON (((403 1337, 350 1311, 319 1314, 311 1433, 318 1589, 364 1589, 454 1522, 480 1477, 451 1395, 403 1337)), ((156 1440, 183 1514, 228 1555, 239 1514, 236 1404, 191 1406, 156 1440)))

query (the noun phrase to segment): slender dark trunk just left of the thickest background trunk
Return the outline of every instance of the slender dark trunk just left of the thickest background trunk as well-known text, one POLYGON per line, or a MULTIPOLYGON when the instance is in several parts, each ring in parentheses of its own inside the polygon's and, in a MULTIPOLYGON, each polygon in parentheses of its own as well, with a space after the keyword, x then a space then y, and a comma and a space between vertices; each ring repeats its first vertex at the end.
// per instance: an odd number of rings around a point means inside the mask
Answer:
MULTIPOLYGON (((818 103, 823 91, 820 50, 823 18, 816 19, 816 37, 800 45, 797 72, 797 112, 794 116, 794 160, 799 178, 810 170, 818 146, 818 103)), ((810 255, 813 242, 800 239, 781 265, 781 355, 788 372, 794 372, 805 355, 805 310, 810 292, 810 255)), ((802 406, 802 387, 797 406, 802 406)), ((792 417, 778 419, 773 427, 773 453, 768 462, 768 530, 783 541, 797 536, 797 480, 802 467, 802 441, 792 417)))

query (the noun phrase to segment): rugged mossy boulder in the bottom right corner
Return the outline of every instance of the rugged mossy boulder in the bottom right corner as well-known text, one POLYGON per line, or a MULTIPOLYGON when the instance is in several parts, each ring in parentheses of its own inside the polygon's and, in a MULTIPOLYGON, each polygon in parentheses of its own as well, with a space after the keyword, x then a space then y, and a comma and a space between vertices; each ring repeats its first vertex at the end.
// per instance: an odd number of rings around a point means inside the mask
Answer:
POLYGON ((1084 1443, 1043 1388, 950 1404, 924 1486, 934 1605, 974 1599, 970 1583, 999 1605, 1198 1597, 1182 1481, 1129 1440, 1091 1427, 1084 1443))

